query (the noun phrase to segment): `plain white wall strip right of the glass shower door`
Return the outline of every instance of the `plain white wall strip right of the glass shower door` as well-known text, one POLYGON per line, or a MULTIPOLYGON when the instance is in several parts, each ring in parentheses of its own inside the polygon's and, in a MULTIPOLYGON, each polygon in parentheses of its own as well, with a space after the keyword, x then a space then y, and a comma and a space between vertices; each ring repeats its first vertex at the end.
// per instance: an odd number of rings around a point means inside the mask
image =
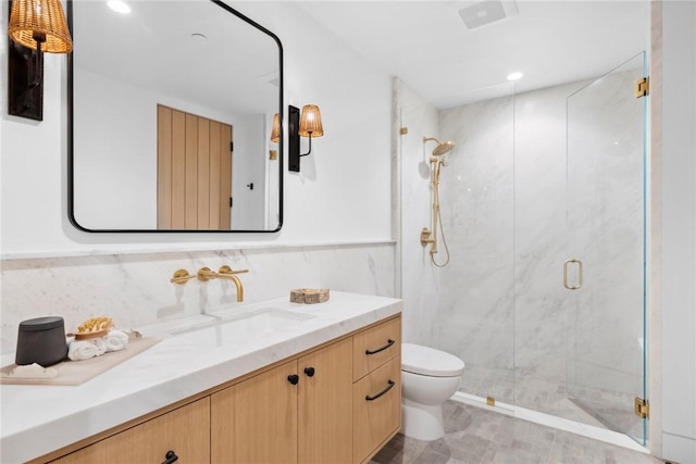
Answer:
POLYGON ((696 3, 662 2, 662 456, 696 462, 696 3))

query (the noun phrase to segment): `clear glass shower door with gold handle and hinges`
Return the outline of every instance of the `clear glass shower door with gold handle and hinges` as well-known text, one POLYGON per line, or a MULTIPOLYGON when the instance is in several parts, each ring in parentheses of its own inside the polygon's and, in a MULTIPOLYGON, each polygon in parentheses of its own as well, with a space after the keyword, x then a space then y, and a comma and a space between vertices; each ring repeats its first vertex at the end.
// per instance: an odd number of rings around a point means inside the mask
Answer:
POLYGON ((563 266, 567 385, 573 402, 642 444, 646 421, 646 100, 634 57, 568 98, 563 266))

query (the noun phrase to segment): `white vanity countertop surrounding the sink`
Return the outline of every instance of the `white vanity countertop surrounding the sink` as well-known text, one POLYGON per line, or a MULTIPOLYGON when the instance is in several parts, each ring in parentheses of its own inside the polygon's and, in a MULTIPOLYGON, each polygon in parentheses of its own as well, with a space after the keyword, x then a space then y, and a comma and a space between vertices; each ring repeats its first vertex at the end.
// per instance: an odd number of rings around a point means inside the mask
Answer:
MULTIPOLYGON (((402 310, 401 300, 334 291, 325 303, 288 300, 235 305, 213 315, 138 328, 144 336, 163 340, 80 386, 0 386, 0 462, 39 457, 402 310), (195 333, 170 335, 191 324, 264 309, 299 314, 301 323, 223 346, 210 338, 201 342, 195 333)), ((13 360, 5 355, 2 365, 13 360)))

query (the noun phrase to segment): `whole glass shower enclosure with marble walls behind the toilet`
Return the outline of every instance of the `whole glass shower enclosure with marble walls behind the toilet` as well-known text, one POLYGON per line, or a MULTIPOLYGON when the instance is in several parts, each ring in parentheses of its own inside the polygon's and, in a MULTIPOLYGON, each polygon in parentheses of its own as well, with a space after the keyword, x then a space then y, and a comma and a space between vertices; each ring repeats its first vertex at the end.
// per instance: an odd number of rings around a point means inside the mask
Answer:
POLYGON ((641 53, 598 79, 508 84, 445 109, 400 89, 405 340, 464 361, 462 401, 646 444, 644 75, 641 53), (423 137, 456 145, 440 178, 445 267, 419 240, 432 222, 423 137))

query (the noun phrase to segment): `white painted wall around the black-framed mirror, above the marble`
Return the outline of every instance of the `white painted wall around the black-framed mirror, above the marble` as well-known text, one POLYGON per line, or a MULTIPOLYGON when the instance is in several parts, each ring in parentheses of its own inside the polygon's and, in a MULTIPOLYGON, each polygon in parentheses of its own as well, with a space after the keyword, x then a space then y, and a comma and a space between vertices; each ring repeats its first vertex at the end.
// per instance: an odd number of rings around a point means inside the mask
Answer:
MULTIPOLYGON (((133 243, 153 243, 154 249, 166 250, 169 243, 182 241, 195 249, 194 242, 223 242, 229 247, 390 238, 389 76, 376 71, 294 4, 236 2, 235 8, 281 38, 286 102, 300 108, 315 103, 322 110, 325 136, 313 140, 312 154, 302 159, 301 173, 284 173, 282 231, 125 236, 75 230, 65 211, 66 63, 65 57, 47 55, 44 122, 10 117, 7 110, 3 112, 3 255, 104 249, 119 252, 133 248, 133 243)), ((2 15, 7 25, 7 12, 2 15)), ((7 40, 2 35, 3 53, 7 40)), ((4 55, 0 65, 7 68, 4 55)), ((2 95, 7 95, 7 87, 2 95)))

